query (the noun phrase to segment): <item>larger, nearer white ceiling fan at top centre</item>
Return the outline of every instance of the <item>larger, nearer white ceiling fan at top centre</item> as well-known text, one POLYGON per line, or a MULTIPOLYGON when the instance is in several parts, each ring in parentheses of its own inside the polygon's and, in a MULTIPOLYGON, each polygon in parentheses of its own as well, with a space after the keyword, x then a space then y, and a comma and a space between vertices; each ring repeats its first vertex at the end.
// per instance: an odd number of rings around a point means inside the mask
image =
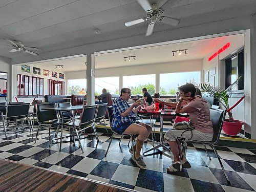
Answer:
POLYGON ((155 3, 151 5, 148 2, 148 0, 137 0, 137 2, 146 11, 146 17, 136 19, 131 22, 126 22, 124 24, 126 27, 130 27, 130 26, 133 26, 136 24, 143 23, 146 20, 150 20, 150 24, 148 24, 147 30, 146 30, 146 36, 149 36, 153 33, 154 26, 155 26, 155 23, 157 22, 157 20, 159 22, 162 22, 162 23, 165 23, 168 25, 172 25, 172 26, 177 26, 180 23, 179 18, 163 16, 162 14, 164 13, 164 10, 155 3))

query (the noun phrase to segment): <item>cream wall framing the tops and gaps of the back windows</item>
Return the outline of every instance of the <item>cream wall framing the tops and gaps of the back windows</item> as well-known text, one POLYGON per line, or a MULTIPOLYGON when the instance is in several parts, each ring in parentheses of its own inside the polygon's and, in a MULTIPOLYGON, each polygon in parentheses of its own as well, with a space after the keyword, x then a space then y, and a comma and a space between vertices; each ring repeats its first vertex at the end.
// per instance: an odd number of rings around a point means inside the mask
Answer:
MULTIPOLYGON (((97 63, 95 63, 97 67, 97 63)), ((156 74, 156 92, 159 93, 159 74, 161 73, 176 73, 176 72, 190 72, 190 71, 202 71, 202 59, 169 62, 169 63, 156 63, 152 65, 130 66, 130 67, 118 67, 108 69, 95 70, 95 77, 113 77, 129 75, 146 75, 156 74)), ((72 71, 66 72, 67 79, 84 79, 86 78, 86 70, 84 71, 72 71)), ((119 89, 122 88, 122 80, 119 83, 119 89)))

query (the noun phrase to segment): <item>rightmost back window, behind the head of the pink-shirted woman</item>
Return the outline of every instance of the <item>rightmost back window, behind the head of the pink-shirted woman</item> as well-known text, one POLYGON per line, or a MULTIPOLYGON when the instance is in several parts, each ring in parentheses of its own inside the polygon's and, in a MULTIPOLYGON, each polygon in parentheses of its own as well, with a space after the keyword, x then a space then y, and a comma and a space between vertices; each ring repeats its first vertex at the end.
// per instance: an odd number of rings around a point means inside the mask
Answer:
POLYGON ((201 82, 200 71, 160 74, 160 95, 174 95, 178 87, 187 82, 195 85, 201 82))

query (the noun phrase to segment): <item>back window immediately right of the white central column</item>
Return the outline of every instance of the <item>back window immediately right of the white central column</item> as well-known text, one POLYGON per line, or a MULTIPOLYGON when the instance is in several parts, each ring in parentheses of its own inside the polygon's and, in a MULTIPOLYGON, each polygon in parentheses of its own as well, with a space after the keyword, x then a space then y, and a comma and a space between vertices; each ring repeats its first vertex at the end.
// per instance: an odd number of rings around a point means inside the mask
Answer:
POLYGON ((103 88, 111 94, 119 94, 119 77, 95 78, 95 95, 100 95, 103 88))

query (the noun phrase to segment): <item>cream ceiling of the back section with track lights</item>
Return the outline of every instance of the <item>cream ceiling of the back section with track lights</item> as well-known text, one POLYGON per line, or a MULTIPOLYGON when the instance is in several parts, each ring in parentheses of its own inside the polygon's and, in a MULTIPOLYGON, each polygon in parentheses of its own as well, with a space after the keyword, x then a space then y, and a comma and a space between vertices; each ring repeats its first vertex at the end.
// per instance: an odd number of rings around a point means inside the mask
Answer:
MULTIPOLYGON (((243 34, 232 36, 243 38, 243 34)), ((95 56, 95 69, 203 59, 208 54, 214 53, 216 51, 216 46, 222 41, 225 42, 226 38, 227 36, 222 36, 210 39, 179 42, 176 44, 171 44, 170 42, 167 44, 167 42, 165 42, 160 45, 152 45, 151 47, 111 50, 107 53, 99 52, 97 56, 95 56), (176 52, 175 56, 173 56, 172 51, 179 49, 187 49, 187 54, 185 55, 185 52, 183 51, 181 55, 178 55, 178 52, 176 52), (136 60, 131 58, 131 61, 129 61, 129 59, 124 61, 123 57, 127 56, 136 56, 136 60)), ((78 55, 77 57, 72 58, 59 58, 54 61, 36 62, 31 66, 40 65, 54 68, 56 65, 63 65, 64 68, 61 69, 61 71, 69 72, 85 70, 85 62, 86 56, 78 55)))

